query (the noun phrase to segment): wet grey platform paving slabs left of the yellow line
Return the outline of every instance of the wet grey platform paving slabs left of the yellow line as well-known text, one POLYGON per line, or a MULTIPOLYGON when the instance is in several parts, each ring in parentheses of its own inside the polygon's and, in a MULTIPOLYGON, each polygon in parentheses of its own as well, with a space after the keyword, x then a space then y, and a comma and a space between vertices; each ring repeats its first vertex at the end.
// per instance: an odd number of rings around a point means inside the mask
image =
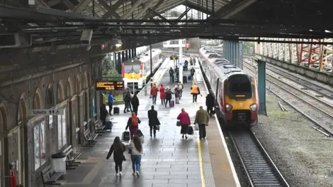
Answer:
MULTIPOLYGON (((163 68, 169 69, 167 66, 163 66, 163 68)), ((189 74, 189 71, 185 71, 184 74, 189 74)), ((174 86, 174 84, 169 84, 169 73, 165 73, 162 80, 157 80, 156 83, 163 83, 165 87, 174 86)), ((175 107, 166 108, 161 105, 160 100, 157 100, 155 109, 158 112, 158 118, 162 125, 160 126, 160 132, 156 134, 156 138, 152 139, 149 136, 147 117, 147 111, 150 109, 152 101, 149 99, 149 95, 138 94, 140 101, 138 117, 142 121, 139 129, 145 135, 140 177, 133 177, 130 155, 127 152, 127 161, 123 163, 123 177, 121 179, 115 176, 112 157, 108 161, 105 160, 114 137, 121 136, 130 116, 130 113, 123 114, 123 105, 119 105, 121 114, 112 116, 112 121, 114 122, 112 132, 106 132, 103 136, 99 136, 96 139, 98 142, 94 147, 80 148, 80 152, 82 152, 80 161, 83 163, 76 170, 67 170, 63 186, 204 186, 203 158, 198 152, 197 132, 185 140, 180 135, 180 127, 176 126, 176 117, 180 113, 181 108, 185 108, 193 123, 196 110, 200 105, 204 104, 200 96, 198 96, 198 103, 192 103, 190 87, 191 83, 184 84, 182 99, 180 104, 176 104, 175 107)), ((200 89, 205 93, 205 87, 200 87, 200 89)), ((205 97, 204 93, 203 97, 205 97)), ((210 165, 210 162, 207 164, 210 165)))

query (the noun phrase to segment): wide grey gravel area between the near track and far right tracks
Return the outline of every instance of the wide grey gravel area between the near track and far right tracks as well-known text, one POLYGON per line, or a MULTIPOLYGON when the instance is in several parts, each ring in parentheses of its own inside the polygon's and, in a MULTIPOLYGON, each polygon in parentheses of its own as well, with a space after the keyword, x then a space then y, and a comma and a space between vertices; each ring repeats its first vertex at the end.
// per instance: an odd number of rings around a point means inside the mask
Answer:
POLYGON ((333 139, 314 130, 302 114, 268 93, 268 116, 253 127, 290 186, 333 186, 333 139), (288 109, 282 112, 278 101, 288 109))

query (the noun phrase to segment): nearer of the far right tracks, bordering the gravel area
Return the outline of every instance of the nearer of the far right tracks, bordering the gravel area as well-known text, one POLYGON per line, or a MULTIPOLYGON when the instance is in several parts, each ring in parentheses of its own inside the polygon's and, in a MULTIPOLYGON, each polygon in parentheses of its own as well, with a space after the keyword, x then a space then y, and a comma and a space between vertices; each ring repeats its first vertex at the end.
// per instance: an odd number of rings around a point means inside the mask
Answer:
MULTIPOLYGON (((246 69, 255 72, 253 66, 244 63, 246 69)), ((319 127, 323 128, 329 134, 333 134, 333 105, 325 103, 325 101, 313 96, 302 89, 283 82, 279 78, 275 78, 272 75, 266 73, 268 77, 266 80, 270 82, 268 88, 273 94, 284 100, 300 112, 303 116, 307 117, 310 121, 314 122, 319 127), (273 87, 271 87, 273 85, 273 87)))

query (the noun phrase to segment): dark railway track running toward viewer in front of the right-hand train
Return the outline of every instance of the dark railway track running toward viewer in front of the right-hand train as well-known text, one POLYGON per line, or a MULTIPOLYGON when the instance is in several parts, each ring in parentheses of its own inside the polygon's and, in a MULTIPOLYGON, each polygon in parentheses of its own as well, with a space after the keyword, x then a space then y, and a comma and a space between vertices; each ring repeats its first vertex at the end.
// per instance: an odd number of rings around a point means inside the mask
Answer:
POLYGON ((228 132, 251 186, 289 186, 251 130, 228 132))

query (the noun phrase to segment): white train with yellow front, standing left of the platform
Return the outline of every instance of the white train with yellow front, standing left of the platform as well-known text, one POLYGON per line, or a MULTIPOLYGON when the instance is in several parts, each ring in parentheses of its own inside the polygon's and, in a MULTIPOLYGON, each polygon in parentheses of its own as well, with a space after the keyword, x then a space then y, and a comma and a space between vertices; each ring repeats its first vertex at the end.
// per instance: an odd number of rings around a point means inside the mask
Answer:
POLYGON ((153 73, 157 71, 157 68, 162 64, 162 51, 157 48, 153 48, 150 51, 146 51, 133 57, 130 60, 126 60, 122 64, 121 74, 125 87, 142 89, 146 84, 146 78, 151 75, 151 54, 153 62, 153 73))

